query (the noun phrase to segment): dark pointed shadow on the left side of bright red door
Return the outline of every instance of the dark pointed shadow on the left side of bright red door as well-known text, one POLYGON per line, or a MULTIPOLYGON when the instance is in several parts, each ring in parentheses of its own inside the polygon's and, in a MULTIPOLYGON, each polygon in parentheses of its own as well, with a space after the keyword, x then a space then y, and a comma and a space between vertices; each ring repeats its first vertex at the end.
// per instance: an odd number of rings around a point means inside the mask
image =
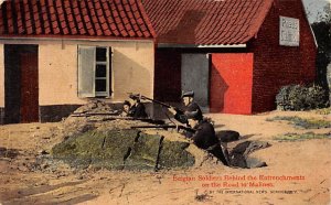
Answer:
POLYGON ((210 89, 210 111, 222 112, 225 104, 225 93, 228 85, 222 77, 215 65, 211 66, 211 89, 210 89))

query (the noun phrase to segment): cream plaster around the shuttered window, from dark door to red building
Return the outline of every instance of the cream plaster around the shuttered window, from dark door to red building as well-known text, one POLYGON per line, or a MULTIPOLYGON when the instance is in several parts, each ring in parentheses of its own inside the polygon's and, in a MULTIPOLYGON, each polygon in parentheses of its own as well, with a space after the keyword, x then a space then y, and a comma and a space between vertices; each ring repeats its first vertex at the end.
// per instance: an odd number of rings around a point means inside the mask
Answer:
POLYGON ((79 99, 77 96, 78 44, 113 47, 114 96, 109 101, 124 100, 129 91, 152 97, 152 42, 68 42, 64 45, 58 42, 40 45, 41 105, 85 102, 85 99, 79 99))

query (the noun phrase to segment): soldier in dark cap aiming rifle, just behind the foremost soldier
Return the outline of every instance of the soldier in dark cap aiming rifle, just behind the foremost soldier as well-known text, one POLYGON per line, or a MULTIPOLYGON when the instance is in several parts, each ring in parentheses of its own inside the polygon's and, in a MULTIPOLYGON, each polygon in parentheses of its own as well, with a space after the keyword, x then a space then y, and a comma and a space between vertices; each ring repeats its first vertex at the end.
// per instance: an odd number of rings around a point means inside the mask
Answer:
POLYGON ((174 119, 177 119, 181 123, 188 125, 188 118, 195 116, 200 120, 203 119, 202 111, 200 106, 194 101, 194 91, 183 93, 181 96, 183 104, 185 106, 184 112, 179 112, 173 107, 169 108, 169 111, 174 115, 174 119))

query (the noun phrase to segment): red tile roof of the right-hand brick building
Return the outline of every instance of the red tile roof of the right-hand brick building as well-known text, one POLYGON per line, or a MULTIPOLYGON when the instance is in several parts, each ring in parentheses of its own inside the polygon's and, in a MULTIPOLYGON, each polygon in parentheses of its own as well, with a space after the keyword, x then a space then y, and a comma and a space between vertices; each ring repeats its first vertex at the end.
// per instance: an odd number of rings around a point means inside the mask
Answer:
POLYGON ((258 32, 273 0, 143 0, 158 43, 242 44, 258 32))

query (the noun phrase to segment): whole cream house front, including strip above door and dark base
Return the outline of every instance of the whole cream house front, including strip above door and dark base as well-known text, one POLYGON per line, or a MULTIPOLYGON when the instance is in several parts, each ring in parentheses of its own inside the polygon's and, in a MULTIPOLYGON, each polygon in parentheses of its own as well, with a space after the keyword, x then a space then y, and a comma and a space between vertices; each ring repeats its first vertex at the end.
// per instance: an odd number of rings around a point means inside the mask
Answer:
MULTIPOLYGON (((114 95, 106 101, 122 101, 129 91, 153 97, 152 41, 2 40, 0 44, 1 50, 3 44, 39 44, 41 121, 57 121, 88 101, 77 96, 77 45, 113 47, 114 95)), ((0 89, 3 89, 3 67, 0 58, 0 89)), ((3 93, 0 93, 0 107, 4 101, 3 93)))

